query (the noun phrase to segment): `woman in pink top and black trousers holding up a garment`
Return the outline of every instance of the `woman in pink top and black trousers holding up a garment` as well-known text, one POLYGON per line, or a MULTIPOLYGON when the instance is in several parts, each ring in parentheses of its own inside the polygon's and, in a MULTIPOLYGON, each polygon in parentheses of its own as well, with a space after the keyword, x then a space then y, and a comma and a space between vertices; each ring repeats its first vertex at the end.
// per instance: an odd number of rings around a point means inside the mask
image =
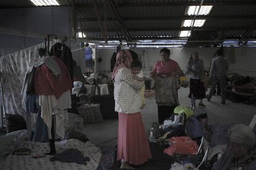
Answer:
POLYGON ((163 48, 160 51, 161 60, 156 62, 150 76, 155 79, 155 98, 158 105, 158 123, 170 118, 174 108, 179 105, 177 97, 177 75, 184 76, 178 63, 169 59, 171 51, 163 48))

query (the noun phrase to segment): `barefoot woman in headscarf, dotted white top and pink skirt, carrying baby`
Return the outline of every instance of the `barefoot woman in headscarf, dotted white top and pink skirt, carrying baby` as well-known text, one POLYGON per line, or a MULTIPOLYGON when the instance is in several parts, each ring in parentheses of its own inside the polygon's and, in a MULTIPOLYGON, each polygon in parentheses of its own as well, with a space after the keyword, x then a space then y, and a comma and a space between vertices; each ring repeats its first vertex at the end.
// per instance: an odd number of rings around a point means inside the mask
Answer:
POLYGON ((143 82, 137 81, 130 70, 132 56, 121 50, 116 55, 113 70, 115 110, 119 116, 117 160, 121 169, 134 169, 129 164, 143 164, 151 158, 147 134, 140 114, 142 100, 139 90, 143 82))

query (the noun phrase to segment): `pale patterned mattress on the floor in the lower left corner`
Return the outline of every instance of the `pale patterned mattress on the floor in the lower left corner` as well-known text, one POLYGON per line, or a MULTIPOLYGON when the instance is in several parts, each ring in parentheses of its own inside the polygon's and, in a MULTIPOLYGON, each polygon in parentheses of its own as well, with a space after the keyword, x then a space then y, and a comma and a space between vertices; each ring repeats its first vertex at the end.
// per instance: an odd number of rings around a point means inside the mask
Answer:
POLYGON ((45 155, 43 158, 32 158, 38 153, 49 152, 49 143, 29 142, 24 141, 19 148, 29 148, 32 150, 30 155, 8 155, 6 160, 0 162, 0 169, 97 169, 100 163, 101 150, 90 142, 83 143, 77 139, 62 140, 55 142, 57 153, 61 153, 68 148, 77 148, 83 153, 83 156, 88 156, 90 161, 87 164, 63 163, 61 161, 49 161, 53 155, 45 155))

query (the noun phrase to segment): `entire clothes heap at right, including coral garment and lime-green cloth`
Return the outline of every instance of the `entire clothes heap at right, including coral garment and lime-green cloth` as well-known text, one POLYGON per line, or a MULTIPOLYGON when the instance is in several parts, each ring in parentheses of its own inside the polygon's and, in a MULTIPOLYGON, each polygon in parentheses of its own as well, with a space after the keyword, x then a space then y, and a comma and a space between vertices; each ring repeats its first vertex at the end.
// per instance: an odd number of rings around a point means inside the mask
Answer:
MULTIPOLYGON (((224 129, 227 130, 227 128, 224 129)), ((163 124, 152 123, 150 142, 167 147, 164 153, 173 156, 174 161, 182 165, 189 163, 196 167, 199 164, 210 167, 216 161, 211 160, 216 155, 215 152, 210 151, 211 141, 217 146, 226 144, 226 138, 223 138, 222 142, 220 140, 220 144, 216 142, 216 137, 222 137, 221 134, 223 134, 218 132, 220 130, 208 126, 207 113, 195 115, 194 110, 177 106, 171 118, 166 119, 163 124), (213 153, 208 161, 205 157, 207 153, 213 153)))

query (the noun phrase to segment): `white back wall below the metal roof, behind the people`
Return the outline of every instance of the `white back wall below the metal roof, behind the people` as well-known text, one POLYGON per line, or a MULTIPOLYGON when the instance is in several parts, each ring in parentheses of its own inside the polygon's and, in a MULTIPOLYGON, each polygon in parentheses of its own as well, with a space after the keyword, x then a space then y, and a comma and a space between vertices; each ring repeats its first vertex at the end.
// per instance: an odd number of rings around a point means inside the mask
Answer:
MULTIPOLYGON (((182 70, 186 69, 187 62, 189 61, 190 54, 193 51, 197 51, 199 57, 203 59, 205 63, 205 68, 210 67, 211 59, 213 59, 213 54, 218 48, 173 48, 173 54, 171 59, 179 63, 182 70)), ((145 63, 148 67, 145 68, 144 72, 147 74, 153 67, 156 60, 160 60, 160 49, 149 49, 149 48, 137 48, 132 49, 137 52, 139 57, 142 51, 145 50, 145 63)), ((229 60, 230 47, 224 49, 225 57, 229 60)), ((98 63, 99 71, 109 71, 110 70, 110 59, 116 49, 98 49, 96 58, 100 57, 103 59, 101 63, 98 63)), ((229 73, 239 73, 244 76, 256 77, 256 48, 255 47, 236 47, 234 48, 234 54, 236 58, 236 63, 229 63, 229 73)))

